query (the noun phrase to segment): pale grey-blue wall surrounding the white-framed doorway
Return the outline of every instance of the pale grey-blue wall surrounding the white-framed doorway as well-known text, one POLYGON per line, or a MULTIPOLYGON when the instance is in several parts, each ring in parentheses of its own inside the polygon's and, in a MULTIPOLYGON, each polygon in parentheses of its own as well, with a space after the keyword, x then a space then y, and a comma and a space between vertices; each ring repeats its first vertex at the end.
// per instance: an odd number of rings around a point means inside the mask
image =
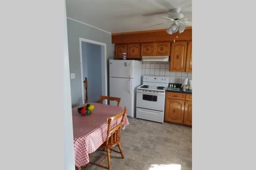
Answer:
MULTIPOLYGON (((72 107, 82 104, 82 84, 80 69, 79 37, 103 42, 106 44, 107 72, 109 72, 109 59, 114 58, 115 46, 111 42, 111 34, 84 25, 80 22, 67 19, 68 42, 69 42, 69 64, 70 73, 75 73, 76 78, 71 80, 72 107)), ((109 74, 107 73, 108 81, 109 74)), ((109 89, 109 82, 108 82, 109 89)), ((108 90, 109 91, 109 90, 108 90)))

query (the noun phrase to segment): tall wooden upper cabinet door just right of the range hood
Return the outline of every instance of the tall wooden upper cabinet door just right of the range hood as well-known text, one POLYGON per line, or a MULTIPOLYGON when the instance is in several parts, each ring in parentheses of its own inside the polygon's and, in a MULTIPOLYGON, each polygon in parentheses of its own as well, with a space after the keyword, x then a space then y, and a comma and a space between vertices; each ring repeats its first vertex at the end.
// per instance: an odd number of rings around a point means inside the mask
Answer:
POLYGON ((185 72, 187 41, 173 42, 170 54, 170 71, 185 72))

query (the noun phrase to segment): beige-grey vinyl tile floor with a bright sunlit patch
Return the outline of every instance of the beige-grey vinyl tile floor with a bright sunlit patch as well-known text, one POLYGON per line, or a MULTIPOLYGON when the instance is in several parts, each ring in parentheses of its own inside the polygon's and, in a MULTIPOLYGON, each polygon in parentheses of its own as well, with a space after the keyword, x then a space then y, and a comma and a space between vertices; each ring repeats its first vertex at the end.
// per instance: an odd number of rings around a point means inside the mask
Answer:
MULTIPOLYGON (((121 132, 124 159, 118 153, 111 153, 113 170, 192 169, 192 128, 137 118, 129 118, 129 123, 121 132)), ((118 151, 118 147, 114 149, 118 151)), ((90 160, 99 163, 105 155, 106 152, 97 150, 90 160)), ((107 160, 103 165, 107 165, 107 160)), ((82 170, 87 169, 103 168, 92 164, 82 167, 82 170)))

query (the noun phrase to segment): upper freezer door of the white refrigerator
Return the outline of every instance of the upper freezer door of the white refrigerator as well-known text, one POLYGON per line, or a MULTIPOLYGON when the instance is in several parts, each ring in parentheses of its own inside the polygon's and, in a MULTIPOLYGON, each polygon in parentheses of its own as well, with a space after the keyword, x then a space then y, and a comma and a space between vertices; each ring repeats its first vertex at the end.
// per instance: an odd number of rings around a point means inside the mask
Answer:
POLYGON ((134 78, 134 60, 110 60, 110 77, 134 78))

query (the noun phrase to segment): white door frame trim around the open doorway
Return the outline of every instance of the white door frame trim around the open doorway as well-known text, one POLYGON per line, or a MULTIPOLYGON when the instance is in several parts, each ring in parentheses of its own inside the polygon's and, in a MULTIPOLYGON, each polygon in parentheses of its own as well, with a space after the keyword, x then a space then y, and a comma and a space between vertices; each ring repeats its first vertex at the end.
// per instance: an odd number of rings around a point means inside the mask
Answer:
POLYGON ((101 91, 102 91, 103 95, 108 95, 108 82, 107 82, 107 74, 106 74, 106 72, 107 72, 107 69, 106 69, 106 43, 79 37, 82 104, 84 104, 83 74, 82 74, 82 72, 83 72, 82 71, 82 42, 88 42, 91 44, 101 45, 101 91))

